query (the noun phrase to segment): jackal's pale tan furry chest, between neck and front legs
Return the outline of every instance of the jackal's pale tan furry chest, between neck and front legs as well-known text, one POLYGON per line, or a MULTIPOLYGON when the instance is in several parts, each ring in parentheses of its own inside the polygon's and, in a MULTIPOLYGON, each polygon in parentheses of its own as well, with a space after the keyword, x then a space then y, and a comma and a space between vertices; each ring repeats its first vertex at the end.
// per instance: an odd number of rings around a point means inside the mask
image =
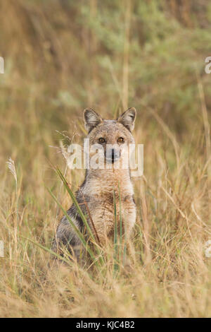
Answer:
POLYGON ((115 220, 131 228, 136 220, 134 190, 127 172, 102 173, 89 179, 86 186, 91 218, 99 232, 113 232, 115 220), (121 175, 121 176, 120 176, 121 175), (89 184, 89 186, 88 186, 89 184))

